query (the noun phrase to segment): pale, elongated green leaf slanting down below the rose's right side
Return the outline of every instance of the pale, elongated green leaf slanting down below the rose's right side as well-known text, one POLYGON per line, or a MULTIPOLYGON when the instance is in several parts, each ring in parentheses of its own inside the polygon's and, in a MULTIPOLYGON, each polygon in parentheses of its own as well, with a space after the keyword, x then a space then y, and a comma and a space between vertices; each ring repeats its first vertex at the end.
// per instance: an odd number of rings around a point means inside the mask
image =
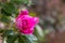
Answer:
POLYGON ((43 41, 43 30, 39 25, 36 26, 34 34, 38 38, 38 41, 43 41))

